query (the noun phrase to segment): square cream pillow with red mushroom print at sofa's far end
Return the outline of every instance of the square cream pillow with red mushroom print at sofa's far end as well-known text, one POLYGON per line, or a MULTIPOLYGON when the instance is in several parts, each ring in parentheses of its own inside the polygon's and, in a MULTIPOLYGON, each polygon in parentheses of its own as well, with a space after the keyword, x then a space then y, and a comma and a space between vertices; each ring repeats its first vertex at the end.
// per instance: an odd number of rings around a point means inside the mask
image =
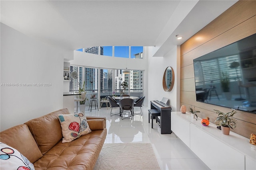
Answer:
POLYGON ((58 117, 62 128, 62 143, 92 132, 84 113, 58 115, 58 117))

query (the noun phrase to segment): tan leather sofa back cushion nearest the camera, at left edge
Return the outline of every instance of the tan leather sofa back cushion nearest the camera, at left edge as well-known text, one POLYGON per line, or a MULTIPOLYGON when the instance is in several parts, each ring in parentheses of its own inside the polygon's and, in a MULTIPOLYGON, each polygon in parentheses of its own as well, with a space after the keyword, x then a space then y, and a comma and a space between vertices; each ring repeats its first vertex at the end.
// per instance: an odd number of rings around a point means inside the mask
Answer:
POLYGON ((2 131, 0 141, 19 150, 32 163, 43 156, 27 125, 17 125, 2 131))

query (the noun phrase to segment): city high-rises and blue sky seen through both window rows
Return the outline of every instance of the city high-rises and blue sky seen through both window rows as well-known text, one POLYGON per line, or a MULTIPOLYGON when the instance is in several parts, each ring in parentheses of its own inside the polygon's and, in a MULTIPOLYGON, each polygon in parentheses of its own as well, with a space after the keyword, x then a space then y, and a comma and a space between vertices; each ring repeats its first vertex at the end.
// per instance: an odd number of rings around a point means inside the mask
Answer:
MULTIPOLYGON (((112 56, 112 46, 105 47, 90 47, 79 49, 85 53, 100 54, 112 56)), ((129 47, 129 46, 115 46, 114 47, 114 57, 123 58, 143 58, 143 47, 129 47), (129 53, 131 57, 129 57, 129 53)), ((122 82, 128 83, 128 88, 131 91, 140 90, 142 91, 143 85, 143 71, 142 70, 131 70, 130 74, 122 74, 122 70, 112 70, 112 69, 98 69, 98 68, 87 68, 81 66, 70 66, 70 71, 78 72, 78 79, 70 82, 70 91, 78 90, 79 84, 83 86, 88 92, 108 92, 112 91, 121 92, 122 82), (83 71, 84 70, 84 71, 83 71), (98 77, 100 76, 100 81, 98 77), (114 81, 114 84, 113 84, 114 81), (99 86, 100 84, 100 86, 99 86), (98 89, 98 87, 100 89, 98 89), (114 90, 113 90, 114 89, 114 90)), ((127 90, 126 90, 127 91, 127 90)))

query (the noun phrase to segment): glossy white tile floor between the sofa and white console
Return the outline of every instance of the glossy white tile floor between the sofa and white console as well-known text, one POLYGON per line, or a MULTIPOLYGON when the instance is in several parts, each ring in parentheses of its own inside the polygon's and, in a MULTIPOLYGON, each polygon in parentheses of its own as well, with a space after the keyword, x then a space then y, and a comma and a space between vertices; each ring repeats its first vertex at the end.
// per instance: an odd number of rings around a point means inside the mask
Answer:
MULTIPOLYGON (((154 121, 153 129, 148 123, 148 107, 142 107, 143 116, 134 119, 121 119, 118 115, 110 117, 111 108, 102 107, 85 110, 86 115, 104 116, 107 119, 107 137, 105 143, 151 143, 161 170, 206 170, 209 169, 179 138, 172 134, 160 133, 160 127, 154 121)), ((139 111, 139 108, 135 108, 139 111)), ((112 113, 118 113, 113 108, 112 113)))

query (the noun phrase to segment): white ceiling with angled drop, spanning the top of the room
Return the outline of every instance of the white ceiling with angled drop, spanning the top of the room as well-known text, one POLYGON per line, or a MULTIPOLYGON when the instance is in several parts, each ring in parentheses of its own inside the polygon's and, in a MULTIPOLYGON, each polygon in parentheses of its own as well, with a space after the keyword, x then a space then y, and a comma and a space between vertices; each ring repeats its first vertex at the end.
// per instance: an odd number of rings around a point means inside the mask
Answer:
POLYGON ((237 0, 1 0, 1 22, 65 49, 156 46, 164 55, 237 0), (175 35, 183 37, 177 40, 175 35))

